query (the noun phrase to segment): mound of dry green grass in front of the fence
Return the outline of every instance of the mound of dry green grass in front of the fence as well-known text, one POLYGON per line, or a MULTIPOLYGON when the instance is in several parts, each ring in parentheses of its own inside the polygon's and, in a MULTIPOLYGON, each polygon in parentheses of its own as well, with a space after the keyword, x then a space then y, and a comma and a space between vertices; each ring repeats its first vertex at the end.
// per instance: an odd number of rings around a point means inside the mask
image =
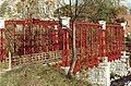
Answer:
POLYGON ((33 64, 1 74, 0 86, 91 86, 78 79, 68 79, 63 71, 33 64))

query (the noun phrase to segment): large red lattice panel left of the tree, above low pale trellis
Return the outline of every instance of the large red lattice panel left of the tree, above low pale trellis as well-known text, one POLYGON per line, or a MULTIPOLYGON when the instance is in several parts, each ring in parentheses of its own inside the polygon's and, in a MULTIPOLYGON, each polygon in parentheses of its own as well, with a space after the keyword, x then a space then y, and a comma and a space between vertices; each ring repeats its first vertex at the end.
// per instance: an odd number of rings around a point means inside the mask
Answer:
POLYGON ((59 50, 58 22, 8 21, 5 23, 7 29, 9 25, 14 27, 13 30, 8 32, 11 36, 10 39, 13 40, 13 56, 59 50))

